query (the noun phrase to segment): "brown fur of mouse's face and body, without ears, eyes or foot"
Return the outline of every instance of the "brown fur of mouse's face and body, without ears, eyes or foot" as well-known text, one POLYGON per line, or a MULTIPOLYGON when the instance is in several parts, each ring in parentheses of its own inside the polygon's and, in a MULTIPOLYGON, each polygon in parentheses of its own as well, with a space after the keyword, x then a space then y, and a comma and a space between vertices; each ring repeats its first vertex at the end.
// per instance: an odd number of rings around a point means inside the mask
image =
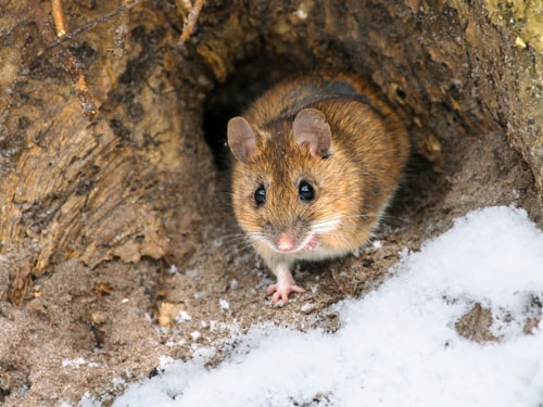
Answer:
POLYGON ((405 128, 375 90, 353 75, 314 73, 268 90, 243 117, 256 135, 256 150, 247 164, 233 166, 232 204, 241 227, 270 241, 290 228, 302 240, 312 222, 342 216, 337 229, 318 237, 315 253, 278 253, 254 240, 272 270, 279 263, 333 257, 362 245, 396 190, 409 154, 405 128), (306 107, 323 112, 330 125, 328 157, 312 156, 293 139, 293 118, 306 107), (315 189, 313 202, 299 199, 302 179, 315 189), (254 191, 261 183, 266 203, 257 207, 254 191))

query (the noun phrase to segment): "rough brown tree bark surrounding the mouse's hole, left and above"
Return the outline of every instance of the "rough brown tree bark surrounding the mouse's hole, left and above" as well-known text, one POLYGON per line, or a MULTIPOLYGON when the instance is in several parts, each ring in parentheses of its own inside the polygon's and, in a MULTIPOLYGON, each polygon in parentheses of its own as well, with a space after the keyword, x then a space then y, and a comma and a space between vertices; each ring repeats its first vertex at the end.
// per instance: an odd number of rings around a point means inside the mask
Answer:
MULTIPOLYGON (((66 2, 68 31, 121 5, 112 3, 66 2)), ((13 302, 63 258, 190 255, 213 196, 205 92, 243 61, 265 56, 272 64, 255 69, 269 76, 358 72, 403 113, 437 169, 451 153, 445 128, 494 132, 543 190, 541 1, 210 0, 178 48, 185 3, 149 0, 51 48, 49 1, 2 1, 0 253, 13 302)))

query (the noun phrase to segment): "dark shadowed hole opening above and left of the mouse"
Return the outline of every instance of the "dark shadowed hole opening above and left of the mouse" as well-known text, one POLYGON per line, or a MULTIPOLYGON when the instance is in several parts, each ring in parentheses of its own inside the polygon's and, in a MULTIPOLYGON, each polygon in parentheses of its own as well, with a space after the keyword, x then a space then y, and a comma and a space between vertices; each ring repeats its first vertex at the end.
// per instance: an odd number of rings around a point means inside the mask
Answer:
POLYGON ((291 55, 272 59, 262 54, 239 63, 233 74, 207 94, 203 130, 219 170, 229 167, 230 154, 226 144, 228 120, 241 115, 270 86, 299 72, 303 72, 303 67, 291 55))

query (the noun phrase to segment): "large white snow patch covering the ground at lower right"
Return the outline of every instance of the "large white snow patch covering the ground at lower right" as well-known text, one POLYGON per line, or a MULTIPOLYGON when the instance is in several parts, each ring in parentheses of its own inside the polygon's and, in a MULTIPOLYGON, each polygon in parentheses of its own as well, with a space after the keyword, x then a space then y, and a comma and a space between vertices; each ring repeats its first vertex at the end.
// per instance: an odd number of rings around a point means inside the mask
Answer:
POLYGON ((543 232, 525 211, 490 207, 459 218, 393 277, 338 306, 341 328, 257 326, 227 360, 164 359, 113 406, 538 406, 543 331, 523 333, 543 302, 543 232), (455 322, 473 304, 492 311, 498 341, 478 344, 455 322))

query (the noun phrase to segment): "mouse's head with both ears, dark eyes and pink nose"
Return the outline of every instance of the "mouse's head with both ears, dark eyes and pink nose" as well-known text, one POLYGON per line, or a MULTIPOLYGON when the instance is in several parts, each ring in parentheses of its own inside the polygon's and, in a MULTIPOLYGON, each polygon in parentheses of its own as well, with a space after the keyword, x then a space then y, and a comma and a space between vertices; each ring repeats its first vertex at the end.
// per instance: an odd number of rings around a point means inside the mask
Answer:
POLYGON ((344 168, 325 114, 304 109, 263 128, 235 117, 228 144, 236 157, 233 209, 253 241, 279 253, 326 242, 349 209, 338 206, 344 168))

